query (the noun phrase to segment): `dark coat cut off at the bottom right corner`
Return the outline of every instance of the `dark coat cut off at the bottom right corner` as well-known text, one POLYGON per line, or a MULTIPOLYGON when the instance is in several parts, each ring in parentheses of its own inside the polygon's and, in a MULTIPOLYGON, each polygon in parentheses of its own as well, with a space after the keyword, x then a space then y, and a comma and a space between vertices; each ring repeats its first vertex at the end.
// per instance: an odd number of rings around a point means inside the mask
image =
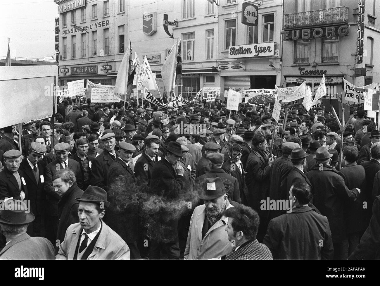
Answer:
POLYGON ((375 197, 369 227, 348 259, 380 259, 380 196, 375 197))

